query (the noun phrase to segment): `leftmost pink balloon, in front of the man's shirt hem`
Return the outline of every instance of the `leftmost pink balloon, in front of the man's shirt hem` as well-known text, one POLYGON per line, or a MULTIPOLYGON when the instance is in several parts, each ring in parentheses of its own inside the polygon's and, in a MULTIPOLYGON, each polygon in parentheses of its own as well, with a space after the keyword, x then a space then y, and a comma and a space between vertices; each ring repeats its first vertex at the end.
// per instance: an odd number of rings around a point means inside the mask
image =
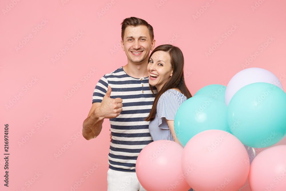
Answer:
POLYGON ((136 175, 148 191, 187 191, 181 169, 182 145, 168 140, 148 144, 138 155, 136 175))

